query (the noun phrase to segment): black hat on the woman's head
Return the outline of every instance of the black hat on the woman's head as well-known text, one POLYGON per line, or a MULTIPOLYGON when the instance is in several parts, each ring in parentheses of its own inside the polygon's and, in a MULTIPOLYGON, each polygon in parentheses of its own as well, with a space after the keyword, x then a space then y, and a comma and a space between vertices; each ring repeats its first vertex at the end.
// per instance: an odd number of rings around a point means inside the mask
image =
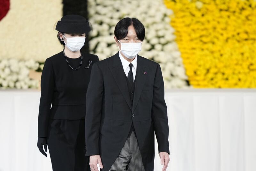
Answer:
POLYGON ((80 15, 63 16, 55 29, 64 33, 88 33, 91 30, 89 22, 80 15))

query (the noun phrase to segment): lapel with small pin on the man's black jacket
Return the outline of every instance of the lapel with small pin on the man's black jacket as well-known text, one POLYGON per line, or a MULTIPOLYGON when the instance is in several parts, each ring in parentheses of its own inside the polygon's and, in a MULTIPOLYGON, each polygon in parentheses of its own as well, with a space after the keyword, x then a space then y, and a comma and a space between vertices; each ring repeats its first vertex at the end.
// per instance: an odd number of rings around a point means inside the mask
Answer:
POLYGON ((134 112, 134 109, 136 108, 138 101, 140 99, 141 91, 143 89, 143 86, 145 84, 147 74, 144 74, 144 72, 148 73, 148 66, 145 66, 142 62, 142 57, 137 55, 137 69, 136 69, 136 82, 135 82, 135 89, 134 89, 134 97, 133 97, 133 105, 132 105, 132 113, 134 112))

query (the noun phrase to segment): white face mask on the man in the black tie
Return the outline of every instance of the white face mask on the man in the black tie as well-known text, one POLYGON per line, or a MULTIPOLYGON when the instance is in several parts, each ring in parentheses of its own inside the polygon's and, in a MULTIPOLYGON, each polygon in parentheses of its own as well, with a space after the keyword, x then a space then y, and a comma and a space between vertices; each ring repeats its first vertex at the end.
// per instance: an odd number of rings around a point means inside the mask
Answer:
POLYGON ((118 46, 118 48, 124 54, 124 56, 126 58, 132 59, 141 51, 142 42, 140 42, 140 43, 121 43, 119 41, 119 43, 121 44, 121 49, 119 48, 119 46, 118 46))

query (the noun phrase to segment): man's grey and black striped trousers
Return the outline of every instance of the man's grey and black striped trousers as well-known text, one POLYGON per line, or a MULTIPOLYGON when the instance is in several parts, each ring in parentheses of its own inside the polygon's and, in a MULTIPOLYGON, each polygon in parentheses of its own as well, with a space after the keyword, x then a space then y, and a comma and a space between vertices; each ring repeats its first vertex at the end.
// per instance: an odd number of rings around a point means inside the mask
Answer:
POLYGON ((145 171, 137 138, 133 131, 109 171, 145 171))

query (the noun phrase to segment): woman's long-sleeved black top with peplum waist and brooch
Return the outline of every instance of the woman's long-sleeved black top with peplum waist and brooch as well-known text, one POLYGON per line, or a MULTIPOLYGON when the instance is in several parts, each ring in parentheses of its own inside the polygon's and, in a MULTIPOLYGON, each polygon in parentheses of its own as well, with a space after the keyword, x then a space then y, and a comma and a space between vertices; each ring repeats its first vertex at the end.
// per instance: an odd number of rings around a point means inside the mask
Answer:
MULTIPOLYGON (((82 66, 73 70, 68 66, 63 52, 47 58, 41 76, 41 98, 38 115, 38 137, 47 137, 49 119, 77 120, 85 118, 85 98, 90 81, 92 65, 98 56, 83 53, 82 66), (85 68, 92 63, 89 68, 85 68), (52 105, 52 107, 51 107, 52 105)), ((79 58, 68 58, 73 68, 80 64, 79 58)))

